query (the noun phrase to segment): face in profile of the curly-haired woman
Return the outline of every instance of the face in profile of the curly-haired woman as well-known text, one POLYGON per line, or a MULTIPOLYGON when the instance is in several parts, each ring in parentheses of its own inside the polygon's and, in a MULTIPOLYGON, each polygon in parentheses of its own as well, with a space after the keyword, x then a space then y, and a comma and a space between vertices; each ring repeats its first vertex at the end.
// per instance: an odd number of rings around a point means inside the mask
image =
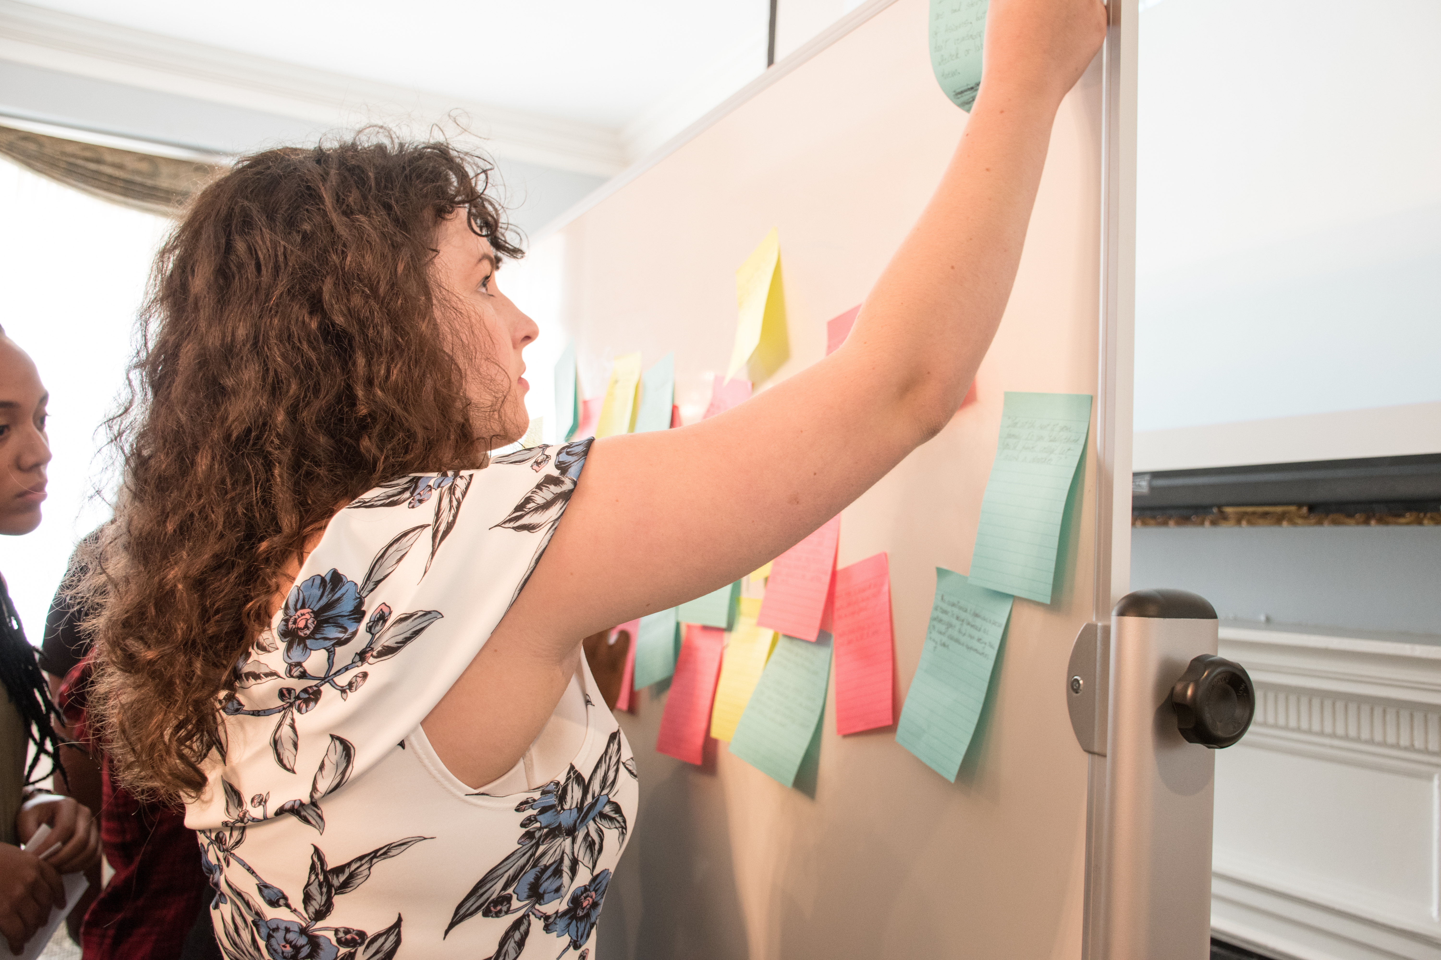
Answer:
POLYGON ((500 292, 496 252, 470 229, 465 210, 441 220, 437 249, 432 271, 447 301, 440 305, 441 322, 450 327, 451 350, 465 371, 465 393, 486 420, 477 427, 496 446, 519 440, 530 426, 520 351, 540 328, 500 292))

